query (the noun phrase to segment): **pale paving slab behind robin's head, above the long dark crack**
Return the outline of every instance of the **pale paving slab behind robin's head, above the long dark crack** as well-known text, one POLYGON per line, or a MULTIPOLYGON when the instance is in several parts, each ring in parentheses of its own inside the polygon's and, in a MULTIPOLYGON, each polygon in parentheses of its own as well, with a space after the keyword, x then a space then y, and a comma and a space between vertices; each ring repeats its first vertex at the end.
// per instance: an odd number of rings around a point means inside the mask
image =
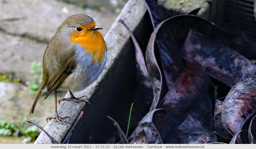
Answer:
POLYGON ((103 27, 103 36, 117 17, 89 8, 63 3, 57 0, 1 0, 0 28, 9 33, 26 35, 48 42, 60 24, 69 16, 83 13, 91 16, 103 27), (12 9, 10 9, 12 8, 12 9))

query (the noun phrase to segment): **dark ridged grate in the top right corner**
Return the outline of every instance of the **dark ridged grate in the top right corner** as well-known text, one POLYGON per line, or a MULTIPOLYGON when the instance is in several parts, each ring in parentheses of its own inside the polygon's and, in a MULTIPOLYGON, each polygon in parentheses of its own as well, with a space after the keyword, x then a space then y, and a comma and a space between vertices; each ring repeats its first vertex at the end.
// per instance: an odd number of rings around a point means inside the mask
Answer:
POLYGON ((226 0, 223 26, 237 32, 256 36, 253 0, 226 0))

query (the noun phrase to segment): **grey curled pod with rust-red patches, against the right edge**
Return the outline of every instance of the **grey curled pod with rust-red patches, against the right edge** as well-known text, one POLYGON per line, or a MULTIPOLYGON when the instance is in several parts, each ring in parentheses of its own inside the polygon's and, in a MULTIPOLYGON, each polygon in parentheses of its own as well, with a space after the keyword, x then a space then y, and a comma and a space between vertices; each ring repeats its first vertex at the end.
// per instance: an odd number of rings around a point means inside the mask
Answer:
POLYGON ((235 135, 255 112, 256 75, 250 75, 237 82, 229 91, 223 104, 222 124, 235 135))

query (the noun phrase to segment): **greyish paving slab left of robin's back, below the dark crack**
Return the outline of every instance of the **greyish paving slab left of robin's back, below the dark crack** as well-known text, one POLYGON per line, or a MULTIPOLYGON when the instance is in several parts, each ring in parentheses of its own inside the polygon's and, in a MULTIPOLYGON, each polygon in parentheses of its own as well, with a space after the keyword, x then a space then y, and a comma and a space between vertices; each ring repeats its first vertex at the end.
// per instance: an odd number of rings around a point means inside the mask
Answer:
POLYGON ((12 73, 22 82, 33 79, 30 66, 42 62, 46 43, 0 32, 0 73, 12 73))

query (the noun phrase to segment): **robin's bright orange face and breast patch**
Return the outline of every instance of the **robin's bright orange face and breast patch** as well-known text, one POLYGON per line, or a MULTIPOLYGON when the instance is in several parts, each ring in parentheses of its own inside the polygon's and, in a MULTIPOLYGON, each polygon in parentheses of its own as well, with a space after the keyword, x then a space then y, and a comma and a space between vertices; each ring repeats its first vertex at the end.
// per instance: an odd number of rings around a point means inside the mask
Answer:
MULTIPOLYGON (((94 26, 95 23, 92 22, 89 25, 94 26)), ((84 47, 85 54, 92 54, 94 64, 101 63, 105 56, 106 43, 99 31, 86 31, 86 28, 90 27, 89 25, 79 25, 83 31, 73 33, 68 41, 84 47)))

